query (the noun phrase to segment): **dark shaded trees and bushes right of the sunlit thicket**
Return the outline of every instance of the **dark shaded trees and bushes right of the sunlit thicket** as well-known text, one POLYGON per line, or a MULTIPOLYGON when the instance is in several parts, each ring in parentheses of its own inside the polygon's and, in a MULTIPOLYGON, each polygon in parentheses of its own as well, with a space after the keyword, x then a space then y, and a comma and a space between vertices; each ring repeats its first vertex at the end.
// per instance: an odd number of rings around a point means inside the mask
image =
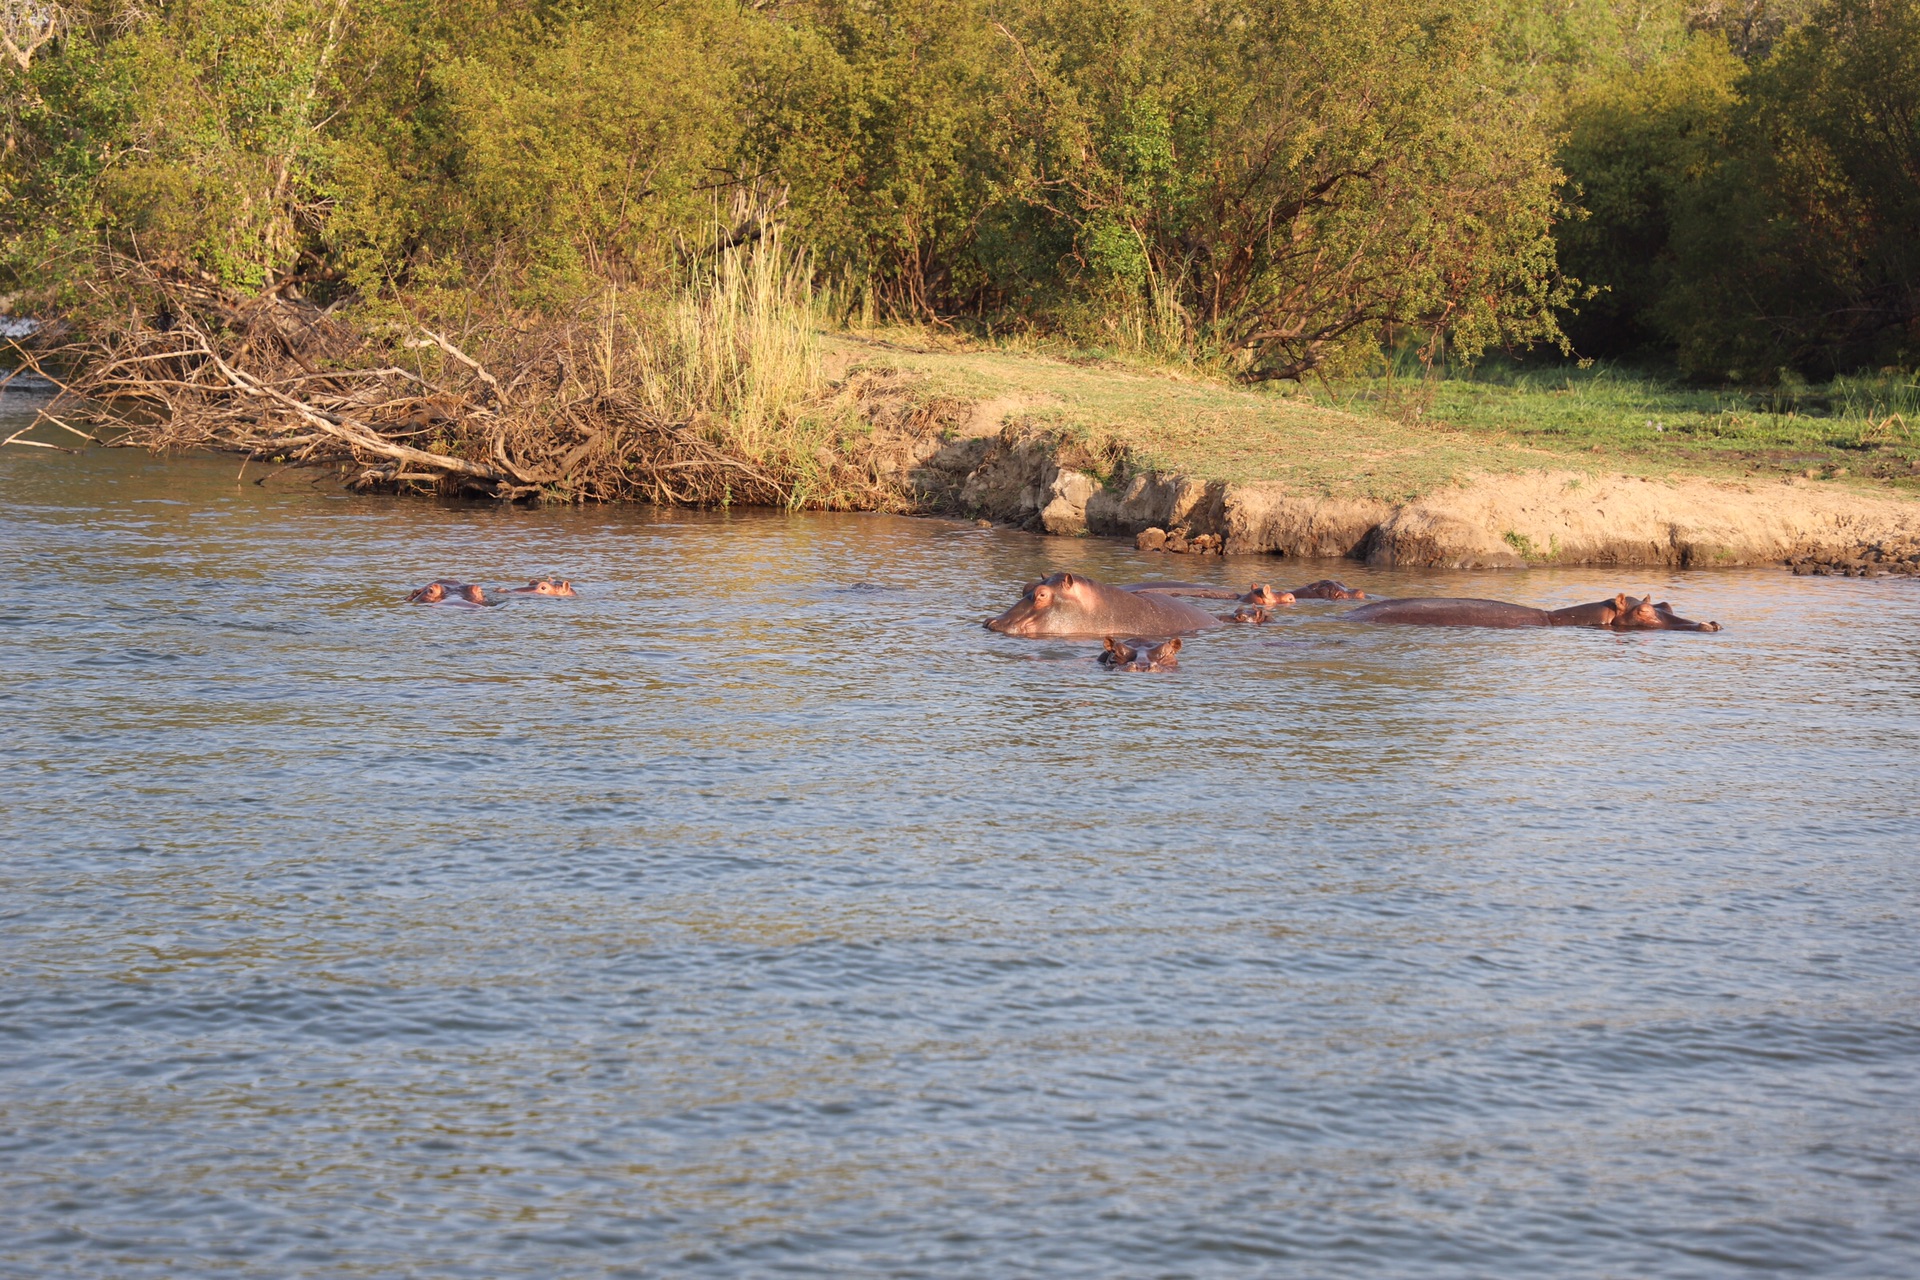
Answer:
POLYGON ((1705 19, 1565 92, 1590 217, 1561 265, 1607 290, 1574 344, 1713 380, 1920 365, 1920 0, 1705 19))

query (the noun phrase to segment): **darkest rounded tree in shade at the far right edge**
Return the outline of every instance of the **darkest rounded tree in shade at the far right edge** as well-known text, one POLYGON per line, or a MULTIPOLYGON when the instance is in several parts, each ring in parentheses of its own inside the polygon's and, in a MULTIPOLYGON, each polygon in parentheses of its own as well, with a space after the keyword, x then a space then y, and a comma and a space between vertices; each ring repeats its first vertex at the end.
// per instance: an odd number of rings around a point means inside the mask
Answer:
POLYGON ((1920 0, 1832 0, 1740 83, 1659 317, 1703 376, 1920 361, 1920 0))

